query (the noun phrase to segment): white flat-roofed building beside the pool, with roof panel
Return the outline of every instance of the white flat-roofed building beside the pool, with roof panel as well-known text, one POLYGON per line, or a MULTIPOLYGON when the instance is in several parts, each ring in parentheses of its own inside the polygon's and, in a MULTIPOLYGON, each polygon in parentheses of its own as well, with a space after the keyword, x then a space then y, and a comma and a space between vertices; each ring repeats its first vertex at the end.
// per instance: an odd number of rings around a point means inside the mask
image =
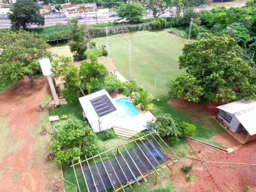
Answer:
POLYGON ((105 89, 80 97, 79 101, 95 133, 112 128, 118 108, 105 89))

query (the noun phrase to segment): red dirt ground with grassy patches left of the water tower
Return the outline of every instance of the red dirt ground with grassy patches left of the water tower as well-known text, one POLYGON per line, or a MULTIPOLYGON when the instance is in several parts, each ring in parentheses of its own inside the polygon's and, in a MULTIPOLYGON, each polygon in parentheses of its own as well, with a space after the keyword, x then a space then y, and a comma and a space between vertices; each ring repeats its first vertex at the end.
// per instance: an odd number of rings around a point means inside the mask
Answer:
POLYGON ((44 160, 49 136, 39 134, 43 113, 36 109, 48 95, 47 85, 45 78, 35 79, 31 88, 25 78, 0 94, 0 191, 51 191, 47 168, 56 165, 44 160))

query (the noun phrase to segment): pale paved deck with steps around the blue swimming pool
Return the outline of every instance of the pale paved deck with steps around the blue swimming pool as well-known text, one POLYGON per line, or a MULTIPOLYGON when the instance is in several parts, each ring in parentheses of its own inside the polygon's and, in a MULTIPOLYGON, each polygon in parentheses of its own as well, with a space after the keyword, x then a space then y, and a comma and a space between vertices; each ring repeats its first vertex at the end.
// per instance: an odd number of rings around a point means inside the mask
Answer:
MULTIPOLYGON (((120 98, 127 98, 132 103, 130 97, 123 94, 110 94, 111 98, 115 101, 120 98)), ((120 109, 121 111, 122 109, 120 109)), ((135 116, 119 116, 115 122, 113 122, 114 132, 123 138, 130 138, 136 133, 146 129, 147 121, 152 121, 155 116, 150 111, 142 111, 138 109, 139 114, 135 116)))

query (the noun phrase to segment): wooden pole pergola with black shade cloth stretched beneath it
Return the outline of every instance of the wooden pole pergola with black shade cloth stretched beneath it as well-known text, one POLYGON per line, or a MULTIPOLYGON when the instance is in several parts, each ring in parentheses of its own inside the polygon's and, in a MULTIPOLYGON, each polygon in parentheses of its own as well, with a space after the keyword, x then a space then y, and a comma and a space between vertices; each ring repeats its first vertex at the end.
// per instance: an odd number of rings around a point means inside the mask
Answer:
MULTIPOLYGON (((94 155, 90 158, 85 156, 85 160, 78 160, 78 163, 73 163, 72 166, 74 169, 74 174, 76 177, 78 189, 80 190, 79 182, 77 180, 77 174, 75 171, 75 166, 80 165, 79 171, 84 180, 87 192, 102 192, 107 191, 110 188, 113 188, 114 192, 125 191, 125 187, 130 186, 135 183, 135 191, 137 191, 137 185, 139 181, 144 180, 147 182, 146 177, 152 177, 153 173, 155 174, 155 184, 157 182, 157 176, 159 175, 158 171, 162 170, 165 172, 164 168, 170 167, 171 164, 175 165, 175 162, 180 161, 179 157, 172 151, 172 149, 164 142, 164 140, 159 136, 156 131, 149 132, 143 136, 134 139, 132 137, 131 141, 127 141, 126 143, 122 143, 121 145, 111 148, 109 150, 105 150, 102 153, 94 155), (147 138, 147 136, 151 136, 151 138, 147 138), (174 154, 177 160, 173 161, 173 159, 169 156, 168 152, 164 149, 164 147, 157 141, 156 138, 159 138, 165 146, 174 154), (138 141, 144 142, 138 143, 138 141), (137 147, 132 148, 131 143, 135 143, 137 147), (157 144, 156 144, 157 143, 157 144), (126 145, 130 146, 131 149, 127 150, 126 145), (158 146, 162 149, 162 151, 158 148, 158 146), (124 147, 124 153, 121 153, 120 147, 124 147), (117 150, 117 155, 114 153, 114 150, 117 150), (111 153, 113 157, 109 157, 107 153, 111 153), (107 159, 102 160, 102 155, 106 155, 107 159), (96 163, 95 157, 99 157, 100 161, 96 163), (94 164, 89 164, 89 160, 93 159, 94 164), (170 163, 167 161, 171 160, 170 163), (83 162, 87 162, 86 167, 82 166, 83 162), (164 163, 164 166, 161 164, 164 163), (159 166, 160 168, 156 167, 159 166), (125 183, 126 182, 126 183, 125 183), (125 184, 124 184, 125 183, 125 184), (117 186, 120 185, 118 188, 117 186)), ((182 162, 181 162, 182 163, 182 162)))

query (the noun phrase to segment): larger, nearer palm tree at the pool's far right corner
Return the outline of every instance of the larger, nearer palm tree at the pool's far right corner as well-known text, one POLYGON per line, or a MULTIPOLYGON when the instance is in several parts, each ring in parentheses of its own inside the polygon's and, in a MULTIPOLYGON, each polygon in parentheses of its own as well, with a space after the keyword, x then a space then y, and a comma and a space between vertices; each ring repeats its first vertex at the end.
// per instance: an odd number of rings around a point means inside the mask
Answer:
POLYGON ((149 111, 153 108, 151 101, 153 100, 152 94, 149 94, 145 89, 138 89, 137 92, 133 92, 131 97, 134 99, 133 104, 137 108, 149 111))

